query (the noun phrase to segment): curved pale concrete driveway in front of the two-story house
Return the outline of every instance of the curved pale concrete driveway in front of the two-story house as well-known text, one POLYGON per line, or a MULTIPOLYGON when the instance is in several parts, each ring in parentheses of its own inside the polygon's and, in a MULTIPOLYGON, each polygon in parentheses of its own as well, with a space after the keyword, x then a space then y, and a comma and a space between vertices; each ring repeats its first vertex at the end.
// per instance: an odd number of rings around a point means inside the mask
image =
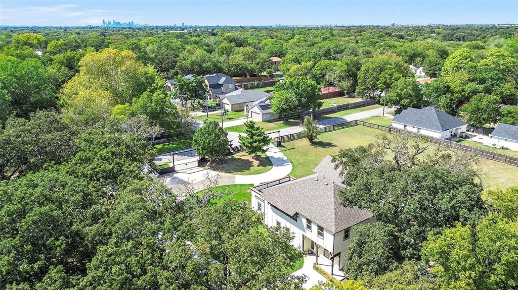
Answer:
POLYGON ((254 175, 239 175, 217 172, 200 167, 190 168, 186 170, 179 170, 177 172, 164 174, 159 178, 164 180, 164 184, 172 190, 185 190, 185 185, 191 185, 198 190, 205 189, 210 181, 217 179, 218 185, 230 184, 261 184, 275 179, 283 178, 292 171, 292 164, 286 158, 279 148, 270 144, 267 147, 266 155, 271 160, 272 168, 267 172, 254 175))

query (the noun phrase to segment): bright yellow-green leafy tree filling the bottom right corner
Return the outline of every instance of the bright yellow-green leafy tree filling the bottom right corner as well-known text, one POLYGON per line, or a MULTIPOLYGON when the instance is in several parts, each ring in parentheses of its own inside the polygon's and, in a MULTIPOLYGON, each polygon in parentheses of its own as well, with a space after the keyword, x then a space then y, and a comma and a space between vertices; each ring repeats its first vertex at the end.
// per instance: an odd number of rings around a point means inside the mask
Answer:
POLYGON ((430 235, 423 257, 438 286, 450 289, 512 289, 518 285, 518 224, 490 215, 470 225, 430 235))

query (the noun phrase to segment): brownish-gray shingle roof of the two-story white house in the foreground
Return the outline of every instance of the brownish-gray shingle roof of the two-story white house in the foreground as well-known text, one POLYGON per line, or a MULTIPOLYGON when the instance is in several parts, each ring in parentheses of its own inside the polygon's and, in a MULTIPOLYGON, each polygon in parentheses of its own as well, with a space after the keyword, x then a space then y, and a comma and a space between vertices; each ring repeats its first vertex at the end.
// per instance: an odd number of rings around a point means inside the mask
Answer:
POLYGON ((339 191, 345 188, 327 156, 314 169, 316 174, 262 189, 263 198, 281 211, 304 215, 337 233, 372 217, 366 210, 340 204, 339 191))

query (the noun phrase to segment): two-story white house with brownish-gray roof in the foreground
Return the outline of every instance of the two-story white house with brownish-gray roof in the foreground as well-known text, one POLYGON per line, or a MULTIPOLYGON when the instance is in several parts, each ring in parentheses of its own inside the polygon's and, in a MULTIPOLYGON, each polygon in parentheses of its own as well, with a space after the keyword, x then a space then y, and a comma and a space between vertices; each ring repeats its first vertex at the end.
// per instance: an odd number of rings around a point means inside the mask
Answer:
POLYGON ((345 185, 330 156, 313 171, 315 174, 305 178, 287 176, 253 187, 251 206, 264 215, 268 227, 290 229, 292 245, 317 253, 317 264, 321 261, 341 269, 354 225, 374 222, 375 218, 369 211, 340 204, 338 194, 345 185))

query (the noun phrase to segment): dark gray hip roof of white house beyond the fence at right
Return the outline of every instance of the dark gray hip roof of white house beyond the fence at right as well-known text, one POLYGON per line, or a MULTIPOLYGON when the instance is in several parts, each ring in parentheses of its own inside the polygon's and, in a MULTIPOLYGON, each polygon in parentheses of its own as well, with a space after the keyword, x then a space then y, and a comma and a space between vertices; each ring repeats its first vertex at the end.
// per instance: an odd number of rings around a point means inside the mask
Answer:
POLYGON ((434 107, 407 108, 394 116, 393 122, 444 132, 466 125, 465 122, 434 107))

